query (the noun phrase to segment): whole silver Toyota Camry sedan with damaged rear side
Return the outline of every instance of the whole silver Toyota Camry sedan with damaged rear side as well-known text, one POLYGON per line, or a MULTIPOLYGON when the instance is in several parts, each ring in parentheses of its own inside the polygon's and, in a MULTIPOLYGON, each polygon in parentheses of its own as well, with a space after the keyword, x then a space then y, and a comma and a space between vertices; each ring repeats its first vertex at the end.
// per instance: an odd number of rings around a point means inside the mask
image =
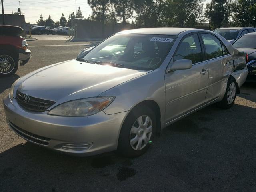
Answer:
POLYGON ((126 30, 16 80, 4 109, 10 128, 34 144, 135 157, 196 110, 230 108, 247 73, 246 53, 214 32, 126 30))

